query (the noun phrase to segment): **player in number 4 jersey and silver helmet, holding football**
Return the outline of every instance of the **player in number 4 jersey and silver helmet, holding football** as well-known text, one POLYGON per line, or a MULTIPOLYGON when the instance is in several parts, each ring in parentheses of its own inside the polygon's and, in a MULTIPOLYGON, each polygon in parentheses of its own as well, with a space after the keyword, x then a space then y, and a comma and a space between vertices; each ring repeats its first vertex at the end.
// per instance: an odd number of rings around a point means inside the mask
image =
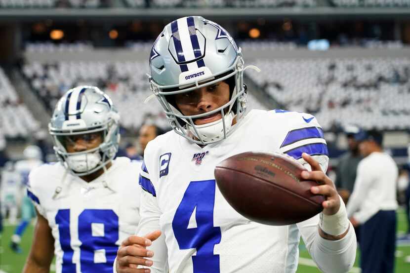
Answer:
POLYGON ((145 149, 141 221, 137 236, 123 241, 115 270, 294 273, 302 235, 322 272, 348 272, 356 237, 324 173, 327 145, 315 117, 283 110, 245 115, 241 49, 221 26, 202 17, 165 26, 150 66, 151 88, 174 130, 145 149), (215 186, 215 165, 261 150, 285 153, 312 167, 302 177, 322 184, 311 191, 327 197, 323 213, 294 225, 267 226, 244 218, 227 203, 215 186))

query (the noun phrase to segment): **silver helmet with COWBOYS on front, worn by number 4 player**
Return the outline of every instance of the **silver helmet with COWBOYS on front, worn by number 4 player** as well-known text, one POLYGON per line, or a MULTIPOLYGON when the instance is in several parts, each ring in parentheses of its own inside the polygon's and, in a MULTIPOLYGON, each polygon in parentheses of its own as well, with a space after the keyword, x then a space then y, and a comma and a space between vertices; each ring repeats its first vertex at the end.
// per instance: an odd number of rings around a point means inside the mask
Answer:
POLYGON ((226 138, 234 117, 237 122, 246 110, 244 60, 229 33, 200 16, 183 17, 165 26, 150 55, 151 89, 164 108, 176 133, 198 143, 208 144, 226 138), (207 113, 184 116, 173 103, 175 94, 227 80, 230 101, 207 113), (235 85, 235 86, 234 86, 235 85), (193 119, 220 112, 220 120, 195 125, 193 119), (199 139, 193 139, 193 135, 199 139))

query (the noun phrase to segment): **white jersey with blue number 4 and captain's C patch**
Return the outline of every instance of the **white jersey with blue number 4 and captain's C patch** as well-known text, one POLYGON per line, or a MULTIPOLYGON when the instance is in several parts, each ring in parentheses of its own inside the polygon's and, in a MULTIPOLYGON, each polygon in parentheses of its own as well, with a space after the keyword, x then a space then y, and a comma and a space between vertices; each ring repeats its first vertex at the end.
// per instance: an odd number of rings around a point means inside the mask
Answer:
POLYGON ((261 225, 237 213, 214 180, 219 162, 248 151, 285 153, 302 163, 306 152, 326 171, 328 149, 316 118, 253 110, 235 126, 228 138, 204 147, 173 131, 148 144, 137 234, 163 232, 153 243, 154 272, 294 273, 300 235, 316 258, 319 215, 290 226, 261 225))

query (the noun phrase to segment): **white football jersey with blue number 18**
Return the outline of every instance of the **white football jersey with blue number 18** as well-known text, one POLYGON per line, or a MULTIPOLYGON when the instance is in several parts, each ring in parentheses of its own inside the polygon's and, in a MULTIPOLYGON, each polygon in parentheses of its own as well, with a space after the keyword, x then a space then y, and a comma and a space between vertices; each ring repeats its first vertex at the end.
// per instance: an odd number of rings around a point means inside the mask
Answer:
POLYGON ((123 239, 139 221, 141 161, 127 157, 87 183, 61 163, 30 173, 28 195, 55 239, 57 273, 112 273, 123 239))

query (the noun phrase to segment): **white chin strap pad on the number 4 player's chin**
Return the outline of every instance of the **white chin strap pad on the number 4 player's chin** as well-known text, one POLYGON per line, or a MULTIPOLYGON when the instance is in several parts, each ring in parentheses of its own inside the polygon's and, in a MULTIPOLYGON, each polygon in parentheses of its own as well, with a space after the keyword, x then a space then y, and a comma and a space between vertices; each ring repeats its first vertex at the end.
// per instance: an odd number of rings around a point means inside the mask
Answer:
MULTIPOLYGON (((229 130, 232 127, 232 120, 234 120, 234 117, 235 115, 233 112, 230 112, 228 115, 222 117, 223 119, 225 119, 226 134, 228 134, 229 130)), ((191 126, 190 124, 188 124, 188 129, 194 136, 196 136, 199 140, 202 140, 203 142, 220 140, 224 137, 222 118, 203 125, 194 125, 195 129, 198 131, 198 134, 193 128, 193 126, 191 126)))

